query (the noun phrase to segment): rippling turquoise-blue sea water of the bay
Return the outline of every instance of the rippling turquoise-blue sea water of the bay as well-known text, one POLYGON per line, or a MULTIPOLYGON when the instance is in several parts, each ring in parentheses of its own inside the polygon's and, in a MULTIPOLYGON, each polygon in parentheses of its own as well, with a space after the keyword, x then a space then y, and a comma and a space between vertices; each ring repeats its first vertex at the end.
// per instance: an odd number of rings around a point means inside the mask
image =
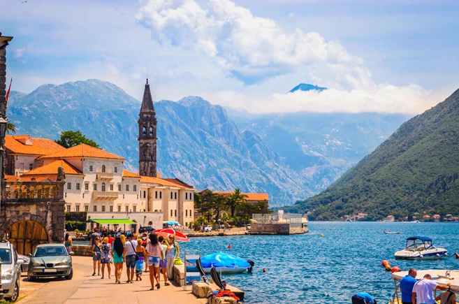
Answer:
POLYGON ((201 256, 226 252, 255 261, 252 274, 222 275, 246 292, 247 303, 351 303, 358 291, 388 303, 394 287, 391 273, 381 266, 383 260, 402 270, 459 269, 454 257, 437 261, 393 257, 409 236, 428 236, 449 254, 459 252, 459 223, 311 222, 309 231, 297 236, 191 238, 180 245, 182 251, 199 249, 201 256), (384 230, 401 234, 386 235, 384 230), (233 249, 227 249, 228 244, 233 249))

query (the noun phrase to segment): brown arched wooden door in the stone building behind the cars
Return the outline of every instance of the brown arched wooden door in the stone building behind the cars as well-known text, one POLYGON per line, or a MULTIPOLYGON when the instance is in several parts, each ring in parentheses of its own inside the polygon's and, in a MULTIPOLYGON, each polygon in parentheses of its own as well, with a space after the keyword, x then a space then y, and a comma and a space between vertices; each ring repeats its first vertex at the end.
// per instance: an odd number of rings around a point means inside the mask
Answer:
POLYGON ((48 243, 48 231, 39 222, 22 220, 8 227, 8 240, 15 245, 18 254, 34 252, 37 245, 48 243))

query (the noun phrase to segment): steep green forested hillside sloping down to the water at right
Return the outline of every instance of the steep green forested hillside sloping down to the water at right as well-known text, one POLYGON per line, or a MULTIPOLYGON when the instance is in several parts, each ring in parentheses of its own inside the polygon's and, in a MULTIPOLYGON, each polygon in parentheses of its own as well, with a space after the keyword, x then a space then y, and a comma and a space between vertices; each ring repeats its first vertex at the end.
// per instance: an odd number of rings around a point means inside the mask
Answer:
POLYGON ((387 215, 459 215, 459 90, 405 122, 372 154, 320 194, 284 208, 311 211, 310 219, 354 212, 387 215))

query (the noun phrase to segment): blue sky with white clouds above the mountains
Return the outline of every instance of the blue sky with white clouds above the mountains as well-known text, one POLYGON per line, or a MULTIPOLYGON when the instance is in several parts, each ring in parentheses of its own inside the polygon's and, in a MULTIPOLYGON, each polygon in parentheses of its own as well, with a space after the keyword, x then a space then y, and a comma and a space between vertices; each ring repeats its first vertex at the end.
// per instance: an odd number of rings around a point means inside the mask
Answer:
POLYGON ((249 113, 409 113, 459 87, 459 2, 3 0, 7 78, 97 78, 249 113), (295 92, 300 82, 328 87, 295 92))

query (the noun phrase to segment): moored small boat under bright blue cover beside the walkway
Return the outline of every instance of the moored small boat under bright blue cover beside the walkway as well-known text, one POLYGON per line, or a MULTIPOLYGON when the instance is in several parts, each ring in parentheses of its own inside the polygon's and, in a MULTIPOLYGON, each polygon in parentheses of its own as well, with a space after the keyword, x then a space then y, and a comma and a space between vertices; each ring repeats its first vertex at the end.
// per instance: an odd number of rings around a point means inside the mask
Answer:
POLYGON ((210 273, 214 267, 218 273, 244 273, 252 268, 254 262, 245 261, 233 254, 217 253, 201 257, 201 266, 205 273, 210 273))

